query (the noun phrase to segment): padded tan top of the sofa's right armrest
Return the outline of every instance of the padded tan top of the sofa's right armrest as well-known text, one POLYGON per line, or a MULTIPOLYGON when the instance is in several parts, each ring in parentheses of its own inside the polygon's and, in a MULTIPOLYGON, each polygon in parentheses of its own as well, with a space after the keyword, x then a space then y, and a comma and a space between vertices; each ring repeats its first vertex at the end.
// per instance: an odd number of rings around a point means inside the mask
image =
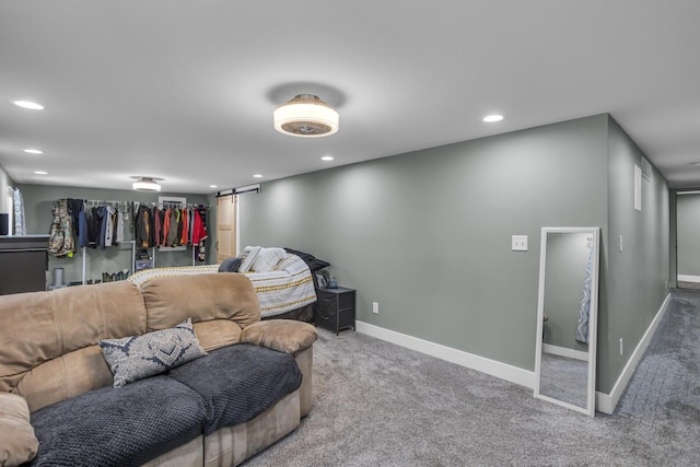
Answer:
POLYGON ((295 353, 311 347, 316 338, 316 328, 313 325, 292 319, 257 322, 241 332, 241 342, 287 353, 295 353))

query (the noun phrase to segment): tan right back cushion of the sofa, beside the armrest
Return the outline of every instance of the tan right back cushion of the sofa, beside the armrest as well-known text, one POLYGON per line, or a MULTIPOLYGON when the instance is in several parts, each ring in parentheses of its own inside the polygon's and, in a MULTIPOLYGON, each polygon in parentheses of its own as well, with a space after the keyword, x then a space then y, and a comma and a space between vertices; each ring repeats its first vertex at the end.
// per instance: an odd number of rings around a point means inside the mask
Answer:
POLYGON ((141 285, 148 331, 192 319, 205 350, 236 343, 241 329, 260 320, 260 304, 244 275, 213 272, 152 279, 141 285))

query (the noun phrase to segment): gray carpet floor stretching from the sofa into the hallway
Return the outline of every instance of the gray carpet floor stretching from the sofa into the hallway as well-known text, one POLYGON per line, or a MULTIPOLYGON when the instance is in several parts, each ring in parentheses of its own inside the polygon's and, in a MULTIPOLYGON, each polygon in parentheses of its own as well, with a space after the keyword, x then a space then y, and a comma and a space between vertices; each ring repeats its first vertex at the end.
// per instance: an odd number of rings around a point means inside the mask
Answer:
POLYGON ((700 465, 700 294, 673 293, 611 416, 352 331, 319 329, 313 408, 253 466, 700 465))

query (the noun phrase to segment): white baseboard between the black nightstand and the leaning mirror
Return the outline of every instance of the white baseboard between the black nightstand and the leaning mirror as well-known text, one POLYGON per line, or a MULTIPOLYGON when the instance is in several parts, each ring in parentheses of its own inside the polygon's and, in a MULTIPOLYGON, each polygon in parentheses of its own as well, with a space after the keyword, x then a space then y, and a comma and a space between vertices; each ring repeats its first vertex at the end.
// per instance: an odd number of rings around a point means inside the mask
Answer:
POLYGON ((472 353, 464 352, 462 350, 445 347, 440 343, 419 339, 417 337, 396 332, 390 329, 363 322, 355 322, 355 329, 358 332, 366 334, 368 336, 396 343, 421 353, 427 353, 481 373, 487 373, 491 376, 520 384, 521 386, 529 388, 535 387, 535 372, 518 369, 517 366, 497 362, 495 360, 486 359, 483 357, 475 355, 472 353))

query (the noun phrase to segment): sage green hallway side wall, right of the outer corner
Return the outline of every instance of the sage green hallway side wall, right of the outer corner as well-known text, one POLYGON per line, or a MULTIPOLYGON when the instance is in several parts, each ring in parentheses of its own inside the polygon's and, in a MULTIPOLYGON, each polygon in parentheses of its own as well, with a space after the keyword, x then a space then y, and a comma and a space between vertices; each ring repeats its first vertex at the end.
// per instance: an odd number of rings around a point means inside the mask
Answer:
POLYGON ((608 141, 609 230, 603 231, 608 248, 603 249, 600 297, 610 312, 598 323, 597 370, 598 390, 606 394, 667 295, 670 242, 666 179, 655 168, 651 182, 642 178, 642 211, 634 210, 634 165, 643 153, 612 118, 608 141))

